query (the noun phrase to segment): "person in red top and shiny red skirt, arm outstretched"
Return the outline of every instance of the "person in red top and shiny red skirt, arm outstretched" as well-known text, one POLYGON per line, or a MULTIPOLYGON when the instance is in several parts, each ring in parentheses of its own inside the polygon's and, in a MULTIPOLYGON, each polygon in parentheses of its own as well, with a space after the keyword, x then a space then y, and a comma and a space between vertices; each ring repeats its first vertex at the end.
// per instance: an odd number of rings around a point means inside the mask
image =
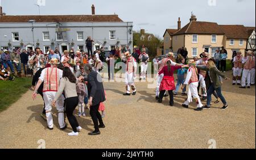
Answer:
POLYGON ((160 93, 159 93, 159 103, 162 103, 164 93, 166 90, 168 90, 169 95, 170 95, 170 106, 174 106, 174 94, 172 93, 172 90, 175 90, 175 83, 174 83, 174 71, 178 70, 180 68, 185 68, 188 67, 187 65, 183 66, 171 66, 171 61, 167 61, 167 66, 164 66, 162 70, 158 73, 161 75, 162 73, 164 74, 163 80, 160 84, 160 93))

